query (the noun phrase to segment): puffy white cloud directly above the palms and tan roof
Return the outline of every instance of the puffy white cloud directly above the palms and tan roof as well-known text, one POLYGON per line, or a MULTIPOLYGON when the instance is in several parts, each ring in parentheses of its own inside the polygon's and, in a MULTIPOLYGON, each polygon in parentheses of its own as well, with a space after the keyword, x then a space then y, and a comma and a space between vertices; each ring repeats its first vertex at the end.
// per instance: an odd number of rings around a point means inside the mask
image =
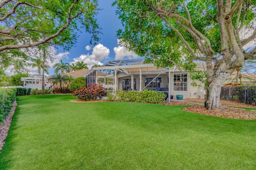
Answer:
POLYGON ((73 59, 74 61, 72 61, 70 64, 76 63, 78 61, 79 62, 83 61, 89 66, 89 68, 91 68, 95 64, 102 65, 103 63, 101 63, 100 61, 104 59, 108 59, 109 53, 110 53, 110 50, 107 47, 104 47, 104 45, 102 44, 98 44, 95 47, 93 47, 91 55, 89 53, 82 54, 80 55, 80 57, 73 59))

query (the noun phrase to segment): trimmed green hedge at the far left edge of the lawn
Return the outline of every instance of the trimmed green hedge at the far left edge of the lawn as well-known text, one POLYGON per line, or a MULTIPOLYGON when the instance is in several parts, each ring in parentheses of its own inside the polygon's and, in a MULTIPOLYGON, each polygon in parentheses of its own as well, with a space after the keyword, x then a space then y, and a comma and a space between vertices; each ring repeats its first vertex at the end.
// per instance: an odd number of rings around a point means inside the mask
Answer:
POLYGON ((16 88, 0 89, 0 123, 10 113, 15 97, 16 88))

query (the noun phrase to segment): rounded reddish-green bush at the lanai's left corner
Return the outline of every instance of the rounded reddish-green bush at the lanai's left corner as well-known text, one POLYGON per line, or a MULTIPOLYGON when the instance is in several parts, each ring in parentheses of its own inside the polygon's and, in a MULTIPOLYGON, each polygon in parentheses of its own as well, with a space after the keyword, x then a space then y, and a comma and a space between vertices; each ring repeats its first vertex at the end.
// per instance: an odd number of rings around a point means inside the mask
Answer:
POLYGON ((102 99, 102 96, 106 95, 106 91, 104 88, 99 88, 96 84, 88 84, 87 88, 79 88, 73 90, 73 96, 76 96, 78 99, 81 100, 97 100, 102 99))

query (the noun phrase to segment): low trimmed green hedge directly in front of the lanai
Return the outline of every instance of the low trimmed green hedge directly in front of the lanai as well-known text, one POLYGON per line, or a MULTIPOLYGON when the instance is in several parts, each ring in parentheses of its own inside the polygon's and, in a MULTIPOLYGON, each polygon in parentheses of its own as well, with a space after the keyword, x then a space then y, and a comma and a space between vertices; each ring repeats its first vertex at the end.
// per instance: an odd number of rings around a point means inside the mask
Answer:
POLYGON ((135 92, 131 90, 129 92, 125 92, 122 90, 116 91, 117 99, 121 102, 127 102, 128 100, 131 102, 138 102, 138 103, 154 103, 160 104, 165 102, 166 94, 164 92, 157 92, 154 90, 147 90, 140 92, 135 92))

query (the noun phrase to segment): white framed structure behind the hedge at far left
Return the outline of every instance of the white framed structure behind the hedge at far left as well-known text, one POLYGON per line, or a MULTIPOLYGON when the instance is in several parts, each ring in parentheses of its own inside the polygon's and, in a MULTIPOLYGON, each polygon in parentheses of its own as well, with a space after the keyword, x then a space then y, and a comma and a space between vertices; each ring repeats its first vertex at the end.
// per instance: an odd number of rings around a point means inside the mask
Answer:
MULTIPOLYGON (((44 89, 51 89, 52 84, 50 84, 47 80, 47 76, 44 76, 44 89)), ((42 90, 42 74, 33 74, 29 77, 22 77, 21 81, 23 81, 24 88, 32 88, 42 90)))

